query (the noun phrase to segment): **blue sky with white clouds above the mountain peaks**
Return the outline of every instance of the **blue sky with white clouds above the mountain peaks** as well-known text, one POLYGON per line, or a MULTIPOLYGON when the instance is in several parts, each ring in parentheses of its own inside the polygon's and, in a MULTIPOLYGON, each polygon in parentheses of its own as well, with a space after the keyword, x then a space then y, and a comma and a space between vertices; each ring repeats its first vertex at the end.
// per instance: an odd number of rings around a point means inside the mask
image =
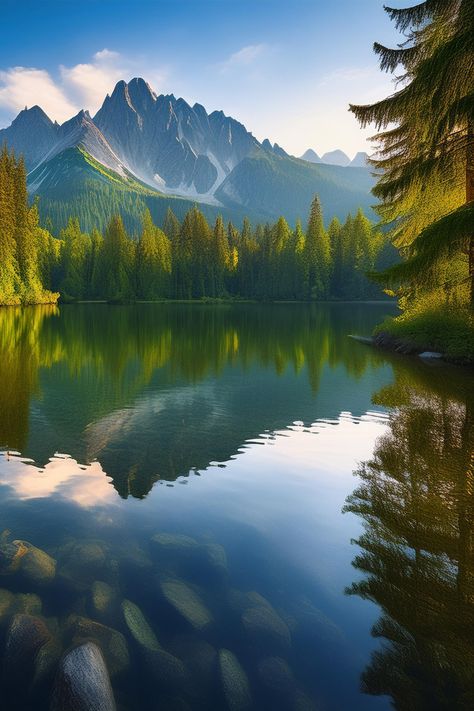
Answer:
MULTIPOLYGON (((413 4, 397 0, 397 7, 413 4)), ((394 90, 376 40, 403 40, 383 0, 0 0, 0 127, 39 104, 59 123, 91 115, 141 76, 221 109, 293 155, 370 152, 348 104, 394 90)))

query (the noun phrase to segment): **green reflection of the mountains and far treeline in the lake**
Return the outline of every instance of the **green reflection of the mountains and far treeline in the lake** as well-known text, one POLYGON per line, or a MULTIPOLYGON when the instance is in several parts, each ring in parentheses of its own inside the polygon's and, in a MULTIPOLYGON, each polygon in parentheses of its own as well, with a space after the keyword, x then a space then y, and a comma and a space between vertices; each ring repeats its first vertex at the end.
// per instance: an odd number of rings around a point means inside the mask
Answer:
POLYGON ((0 445, 40 464, 58 450, 98 459, 121 496, 143 498, 293 420, 363 414, 361 380, 380 385, 388 369, 347 334, 387 308, 2 310, 0 445))

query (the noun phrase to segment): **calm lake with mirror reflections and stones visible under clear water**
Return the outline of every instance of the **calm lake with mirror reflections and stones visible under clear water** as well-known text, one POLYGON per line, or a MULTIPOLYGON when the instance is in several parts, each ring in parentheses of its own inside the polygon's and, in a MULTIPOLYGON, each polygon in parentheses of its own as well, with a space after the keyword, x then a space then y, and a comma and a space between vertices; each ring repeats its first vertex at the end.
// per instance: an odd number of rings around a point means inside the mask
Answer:
POLYGON ((2 708, 91 639, 120 711, 474 708, 474 379, 389 313, 0 310, 2 708))

